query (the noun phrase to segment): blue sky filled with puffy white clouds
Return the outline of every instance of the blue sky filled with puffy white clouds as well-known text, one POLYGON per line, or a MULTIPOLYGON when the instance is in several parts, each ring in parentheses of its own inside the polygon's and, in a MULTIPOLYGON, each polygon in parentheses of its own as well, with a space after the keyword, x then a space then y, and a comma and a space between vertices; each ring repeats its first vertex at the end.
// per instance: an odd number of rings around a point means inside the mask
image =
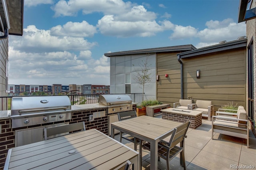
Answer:
POLYGON ((24 0, 9 36, 9 84, 110 84, 104 53, 246 36, 239 0, 24 0))

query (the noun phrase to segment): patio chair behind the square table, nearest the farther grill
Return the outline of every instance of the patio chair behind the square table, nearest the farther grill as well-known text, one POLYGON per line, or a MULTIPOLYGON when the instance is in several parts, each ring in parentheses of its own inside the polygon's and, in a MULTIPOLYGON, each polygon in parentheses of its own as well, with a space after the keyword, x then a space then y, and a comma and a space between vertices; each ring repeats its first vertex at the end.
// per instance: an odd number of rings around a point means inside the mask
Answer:
MULTIPOLYGON (((118 120, 119 121, 123 121, 123 120, 126 120, 126 119, 131 119, 131 118, 134 118, 134 117, 137 117, 136 115, 136 111, 127 111, 127 112, 120 112, 120 113, 117 113, 118 115, 118 120)), ((122 143, 122 138, 130 141, 130 142, 133 142, 134 143, 134 150, 137 150, 137 145, 140 144, 140 140, 138 138, 135 138, 134 136, 131 136, 130 134, 124 134, 123 135, 123 132, 120 132, 120 142, 122 143)))

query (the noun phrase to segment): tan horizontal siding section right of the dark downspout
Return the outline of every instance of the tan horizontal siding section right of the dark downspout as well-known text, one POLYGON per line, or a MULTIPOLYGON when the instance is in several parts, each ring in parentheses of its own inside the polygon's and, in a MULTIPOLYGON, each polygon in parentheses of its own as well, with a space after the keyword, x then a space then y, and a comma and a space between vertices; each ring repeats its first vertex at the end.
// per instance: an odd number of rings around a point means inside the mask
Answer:
POLYGON ((184 95, 209 100, 215 111, 229 102, 246 106, 246 48, 182 59, 184 95), (200 69, 200 79, 196 70, 200 69))

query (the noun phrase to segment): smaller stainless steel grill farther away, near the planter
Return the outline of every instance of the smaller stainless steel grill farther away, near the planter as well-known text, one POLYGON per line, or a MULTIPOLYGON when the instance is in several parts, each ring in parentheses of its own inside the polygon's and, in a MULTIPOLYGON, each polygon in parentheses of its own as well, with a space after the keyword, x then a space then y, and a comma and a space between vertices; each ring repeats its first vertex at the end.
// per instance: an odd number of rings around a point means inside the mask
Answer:
POLYGON ((99 105, 108 107, 108 114, 132 111, 132 99, 128 95, 100 95, 99 105))

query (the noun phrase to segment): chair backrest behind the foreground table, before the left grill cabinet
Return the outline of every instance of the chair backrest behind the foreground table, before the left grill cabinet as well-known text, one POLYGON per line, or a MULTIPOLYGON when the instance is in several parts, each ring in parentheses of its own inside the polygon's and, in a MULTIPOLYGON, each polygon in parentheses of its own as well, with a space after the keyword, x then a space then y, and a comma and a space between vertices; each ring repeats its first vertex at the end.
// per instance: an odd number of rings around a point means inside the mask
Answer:
POLYGON ((54 136, 57 134, 67 133, 67 132, 73 132, 73 131, 83 131, 85 130, 85 125, 84 122, 79 122, 79 123, 73 123, 73 124, 68 124, 68 125, 63 125, 63 126, 58 126, 58 127, 46 127, 44 128, 44 140, 49 139, 49 136, 54 136))

